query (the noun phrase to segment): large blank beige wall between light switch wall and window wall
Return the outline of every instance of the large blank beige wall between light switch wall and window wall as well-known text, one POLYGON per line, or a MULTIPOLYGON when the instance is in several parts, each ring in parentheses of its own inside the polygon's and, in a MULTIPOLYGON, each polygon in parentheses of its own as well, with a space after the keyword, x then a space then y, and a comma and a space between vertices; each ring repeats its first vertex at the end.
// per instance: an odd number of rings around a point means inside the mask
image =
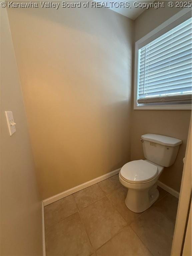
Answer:
POLYGON ((9 20, 42 198, 130 161, 133 21, 104 8, 9 20))

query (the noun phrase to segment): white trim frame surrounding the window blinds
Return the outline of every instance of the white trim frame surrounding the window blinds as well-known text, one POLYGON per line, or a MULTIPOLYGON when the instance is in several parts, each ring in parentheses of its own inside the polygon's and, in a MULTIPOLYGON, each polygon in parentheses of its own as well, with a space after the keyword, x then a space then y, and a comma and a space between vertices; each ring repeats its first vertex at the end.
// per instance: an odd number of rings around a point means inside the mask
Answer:
POLYGON ((163 22, 160 26, 149 32, 147 35, 139 39, 135 43, 135 74, 134 74, 134 109, 145 109, 145 110, 160 110, 160 109, 172 109, 172 110, 181 110, 181 109, 190 109, 191 110, 191 104, 170 104, 170 105, 160 105, 159 103, 155 105, 146 105, 146 106, 138 106, 137 105, 137 76, 138 76, 138 50, 148 44, 149 42, 155 40, 159 36, 165 34, 172 28, 179 25, 181 22, 184 22, 185 20, 189 19, 191 17, 191 10, 192 8, 184 8, 165 22, 163 22))

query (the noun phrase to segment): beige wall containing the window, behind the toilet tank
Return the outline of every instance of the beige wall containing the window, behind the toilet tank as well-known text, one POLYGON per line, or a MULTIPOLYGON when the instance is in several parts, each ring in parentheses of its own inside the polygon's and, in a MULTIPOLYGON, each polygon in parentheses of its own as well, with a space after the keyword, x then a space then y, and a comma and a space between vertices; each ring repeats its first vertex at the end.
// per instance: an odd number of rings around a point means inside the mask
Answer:
MULTIPOLYGON (((178 11, 179 8, 168 7, 144 11, 135 20, 135 42, 178 11)), ((160 177, 160 181, 177 191, 180 190, 181 185, 190 115, 190 110, 132 110, 131 160, 144 159, 140 142, 142 134, 162 134, 183 141, 175 164, 165 168, 160 177)))

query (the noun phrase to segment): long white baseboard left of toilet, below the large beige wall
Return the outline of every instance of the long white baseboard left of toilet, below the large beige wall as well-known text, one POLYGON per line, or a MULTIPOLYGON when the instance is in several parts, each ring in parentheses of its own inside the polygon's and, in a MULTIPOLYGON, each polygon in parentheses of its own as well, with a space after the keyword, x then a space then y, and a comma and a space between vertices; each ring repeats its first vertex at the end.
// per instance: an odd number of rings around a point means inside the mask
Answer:
POLYGON ((47 199, 44 199, 43 200, 43 205, 46 206, 48 204, 51 204, 53 202, 58 201, 59 199, 62 199, 64 197, 66 197, 66 196, 69 196, 69 195, 71 195, 71 194, 73 194, 73 193, 75 193, 77 191, 80 191, 80 190, 82 190, 84 188, 87 188, 87 187, 89 187, 91 185, 94 185, 94 184, 96 184, 96 183, 98 183, 98 182, 100 182, 102 180, 108 179, 108 178, 118 174, 120 170, 121 170, 121 168, 119 168, 117 170, 114 170, 112 172, 108 172, 108 173, 106 173, 106 174, 104 174, 104 175, 102 175, 100 177, 97 177, 97 178, 95 178, 93 180, 87 181, 87 182, 82 183, 82 184, 80 184, 80 185, 78 185, 76 187, 73 187, 73 188, 70 188, 70 189, 68 189, 68 190, 66 190, 64 192, 61 192, 61 193, 59 193, 59 194, 57 194, 55 196, 51 196, 51 197, 49 197, 47 199))

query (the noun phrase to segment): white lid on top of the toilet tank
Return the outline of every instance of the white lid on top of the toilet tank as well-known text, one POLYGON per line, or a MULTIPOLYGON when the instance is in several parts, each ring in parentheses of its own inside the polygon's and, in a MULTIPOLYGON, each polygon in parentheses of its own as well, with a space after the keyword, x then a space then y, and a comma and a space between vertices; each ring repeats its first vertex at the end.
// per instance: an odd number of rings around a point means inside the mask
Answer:
POLYGON ((144 134, 141 136, 141 139, 171 147, 182 144, 182 140, 153 133, 144 134))

